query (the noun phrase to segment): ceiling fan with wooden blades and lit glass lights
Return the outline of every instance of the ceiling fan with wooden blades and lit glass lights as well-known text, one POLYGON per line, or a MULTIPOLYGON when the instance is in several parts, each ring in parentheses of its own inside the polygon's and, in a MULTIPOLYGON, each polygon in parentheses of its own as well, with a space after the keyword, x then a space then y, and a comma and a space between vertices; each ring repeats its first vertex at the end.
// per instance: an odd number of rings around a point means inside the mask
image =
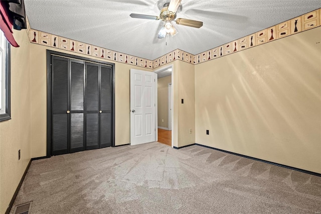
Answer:
POLYGON ((203 26, 203 22, 178 18, 176 19, 176 12, 180 7, 182 0, 169 0, 169 2, 165 3, 163 8, 161 9, 161 13, 159 16, 150 16, 143 14, 130 14, 131 18, 138 19, 150 19, 150 20, 163 20, 165 22, 164 26, 158 33, 158 39, 163 39, 167 35, 171 34, 171 36, 175 36, 178 32, 172 25, 172 21, 175 21, 178 25, 185 25, 193 28, 200 28, 203 26))

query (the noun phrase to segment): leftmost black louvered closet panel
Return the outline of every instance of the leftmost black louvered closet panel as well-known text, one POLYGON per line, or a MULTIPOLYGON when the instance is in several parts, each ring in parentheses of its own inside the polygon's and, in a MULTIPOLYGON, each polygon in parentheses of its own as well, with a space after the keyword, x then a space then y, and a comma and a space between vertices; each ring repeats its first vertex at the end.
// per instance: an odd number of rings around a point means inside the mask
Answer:
POLYGON ((52 155, 68 152, 68 59, 52 57, 52 155))

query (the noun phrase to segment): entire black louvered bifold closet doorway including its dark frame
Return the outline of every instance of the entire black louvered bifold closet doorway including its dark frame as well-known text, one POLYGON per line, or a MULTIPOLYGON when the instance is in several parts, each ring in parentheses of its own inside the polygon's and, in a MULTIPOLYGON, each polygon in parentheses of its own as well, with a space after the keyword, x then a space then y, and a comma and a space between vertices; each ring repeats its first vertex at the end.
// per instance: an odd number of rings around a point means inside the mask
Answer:
POLYGON ((114 146, 114 64, 50 50, 47 64, 47 157, 114 146))

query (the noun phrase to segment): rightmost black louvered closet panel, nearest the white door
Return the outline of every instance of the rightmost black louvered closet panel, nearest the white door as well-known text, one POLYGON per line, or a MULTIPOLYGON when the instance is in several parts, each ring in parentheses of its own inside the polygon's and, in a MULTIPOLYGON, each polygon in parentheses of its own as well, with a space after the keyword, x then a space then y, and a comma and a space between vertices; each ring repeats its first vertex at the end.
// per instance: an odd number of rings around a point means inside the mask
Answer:
POLYGON ((100 148, 111 146, 112 142, 112 96, 111 67, 100 66, 100 148))

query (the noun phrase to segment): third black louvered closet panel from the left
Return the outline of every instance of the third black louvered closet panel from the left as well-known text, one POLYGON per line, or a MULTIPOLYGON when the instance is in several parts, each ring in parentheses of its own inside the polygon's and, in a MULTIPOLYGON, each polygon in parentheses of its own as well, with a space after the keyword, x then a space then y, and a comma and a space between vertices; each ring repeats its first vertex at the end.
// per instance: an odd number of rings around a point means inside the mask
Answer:
POLYGON ((86 62, 86 149, 99 148, 99 64, 86 62))

